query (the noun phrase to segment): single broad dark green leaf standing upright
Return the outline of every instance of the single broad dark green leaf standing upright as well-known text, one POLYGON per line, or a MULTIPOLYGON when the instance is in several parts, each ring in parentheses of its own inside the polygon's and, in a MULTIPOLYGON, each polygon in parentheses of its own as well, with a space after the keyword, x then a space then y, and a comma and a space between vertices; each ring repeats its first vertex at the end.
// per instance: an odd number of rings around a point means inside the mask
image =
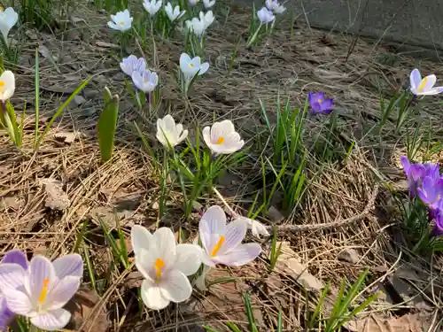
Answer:
POLYGON ((103 161, 108 161, 113 157, 113 142, 115 130, 117 128, 117 118, 119 115, 119 96, 111 95, 111 91, 105 88, 105 108, 100 114, 97 124, 98 145, 103 161))

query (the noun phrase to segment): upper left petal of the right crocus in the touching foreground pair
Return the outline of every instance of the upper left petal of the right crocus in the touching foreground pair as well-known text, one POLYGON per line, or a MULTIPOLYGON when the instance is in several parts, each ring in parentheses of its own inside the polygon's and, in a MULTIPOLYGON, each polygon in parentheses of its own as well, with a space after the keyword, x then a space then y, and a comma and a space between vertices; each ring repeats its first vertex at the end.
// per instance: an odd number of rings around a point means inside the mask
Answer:
POLYGON ((206 251, 211 251, 215 244, 214 235, 224 235, 226 232, 226 215, 219 205, 206 210, 198 224, 198 232, 203 247, 206 251))

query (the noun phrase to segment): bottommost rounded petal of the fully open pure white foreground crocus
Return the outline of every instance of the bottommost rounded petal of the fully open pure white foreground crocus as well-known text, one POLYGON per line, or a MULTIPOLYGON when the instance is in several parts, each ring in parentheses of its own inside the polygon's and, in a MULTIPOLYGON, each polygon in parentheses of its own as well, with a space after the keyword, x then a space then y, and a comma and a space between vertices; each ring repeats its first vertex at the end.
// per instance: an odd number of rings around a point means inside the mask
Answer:
POLYGON ((163 297, 178 303, 190 298, 192 287, 186 275, 179 270, 171 270, 160 282, 160 290, 163 297))

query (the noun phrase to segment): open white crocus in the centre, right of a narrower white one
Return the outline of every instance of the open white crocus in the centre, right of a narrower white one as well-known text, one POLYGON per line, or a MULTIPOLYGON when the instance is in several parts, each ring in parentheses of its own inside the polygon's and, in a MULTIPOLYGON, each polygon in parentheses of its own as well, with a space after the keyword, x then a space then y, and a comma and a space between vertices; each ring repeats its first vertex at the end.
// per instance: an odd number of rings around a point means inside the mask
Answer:
POLYGON ((215 122, 212 127, 204 127, 203 139, 214 154, 233 153, 245 145, 245 141, 241 139, 230 120, 222 120, 215 122))

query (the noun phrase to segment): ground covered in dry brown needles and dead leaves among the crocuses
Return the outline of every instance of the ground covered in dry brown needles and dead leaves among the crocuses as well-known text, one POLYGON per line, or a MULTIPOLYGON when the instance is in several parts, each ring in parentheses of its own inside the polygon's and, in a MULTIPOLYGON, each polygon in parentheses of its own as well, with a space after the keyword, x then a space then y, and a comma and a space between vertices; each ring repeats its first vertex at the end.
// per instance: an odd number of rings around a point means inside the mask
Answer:
MULTIPOLYGON (((26 135, 22 151, 13 147, 6 135, 0 136, 2 250, 19 247, 29 254, 51 257, 79 251, 90 259, 100 291, 94 294, 91 280, 85 277, 81 305, 71 327, 74 330, 200 331, 198 326, 202 323, 228 330, 221 324, 223 321, 233 321, 247 330, 242 297, 245 291, 250 294, 260 331, 276 330, 280 309, 284 330, 304 330, 307 313, 314 309, 324 285, 330 282, 328 300, 333 303, 342 278, 354 282, 366 267, 369 279, 359 301, 379 290, 384 293, 370 305, 370 310, 348 323, 347 330, 441 330, 443 259, 437 254, 424 257, 411 251, 400 212, 392 201, 394 194, 407 197, 399 168, 399 158, 405 150, 404 132, 395 135, 393 120, 388 120, 383 136, 365 133, 380 120, 379 91, 390 97, 401 86, 408 87, 408 73, 413 68, 419 66, 422 72, 441 77, 443 66, 408 54, 395 54, 375 41, 359 40, 350 51, 353 36, 318 31, 298 22, 293 31, 288 24, 280 24, 275 34, 258 47, 240 46, 228 73, 238 37, 246 33, 250 10, 233 5, 226 16, 226 8, 225 4, 217 4, 216 23, 210 29, 206 47, 210 70, 196 82, 190 107, 183 101, 174 77, 183 51, 180 34, 170 40, 156 37, 155 57, 152 50, 142 50, 137 43, 131 45, 129 51, 144 55, 161 80, 162 107, 157 114, 145 114, 144 119, 125 90, 118 66, 120 48, 106 27, 105 13, 82 5, 66 22, 64 31, 20 31, 26 42, 19 55, 12 104, 17 112, 27 104, 26 135), (32 112, 37 47, 41 53, 40 108, 46 117, 51 117, 82 80, 92 75, 93 79, 52 127, 41 150, 34 153, 32 112), (111 162, 102 164, 96 124, 105 86, 120 94, 122 103, 116 151, 111 162), (209 277, 234 277, 235 282, 217 283, 206 293, 195 291, 189 302, 170 305, 160 313, 140 307, 136 293, 139 274, 135 269, 113 266, 112 249, 105 243, 104 230, 97 219, 101 215, 113 232, 122 229, 127 239, 131 225, 155 227, 159 178, 131 123, 136 121, 155 142, 155 120, 167 112, 189 126, 206 126, 214 119, 233 120, 250 147, 249 158, 236 172, 221 179, 219 188, 229 205, 245 214, 260 188, 255 176, 260 173, 258 158, 270 153, 263 135, 265 123, 259 99, 275 114, 278 94, 289 96, 296 106, 305 103, 308 91, 315 90, 334 97, 337 141, 344 146, 354 142, 354 149, 342 163, 324 164, 322 173, 313 171, 308 176, 305 199, 296 209, 282 211, 277 192, 273 207, 282 215, 260 216, 266 225, 277 225, 278 241, 284 243, 284 256, 276 271, 267 272, 269 241, 265 240, 264 252, 253 264, 220 268, 209 277), (48 189, 43 185, 45 179, 56 182, 48 189), (53 206, 60 204, 58 209, 53 206), (340 224, 340 220, 354 216, 358 218, 340 224), (322 224, 330 222, 336 226, 323 228, 322 224), (294 225, 307 227, 299 229, 294 225), (284 264, 283 258, 296 259, 291 260, 291 266, 284 264), (307 269, 301 274, 304 267, 307 269)), ((434 129, 432 135, 438 141, 443 112, 439 97, 426 98, 421 104, 416 117, 424 120, 422 130, 434 129)), ((272 120, 275 119, 271 117, 272 120)), ((324 121, 310 118, 307 137, 314 135, 324 121)), ((310 163, 315 163, 315 157, 311 157, 310 163)), ((169 199, 169 211, 161 224, 175 231, 182 227, 190 236, 197 234, 199 212, 209 205, 221 205, 217 197, 201 197, 193 219, 183 220, 180 192, 172 192, 169 199)), ((330 307, 324 306, 325 317, 330 307)))

